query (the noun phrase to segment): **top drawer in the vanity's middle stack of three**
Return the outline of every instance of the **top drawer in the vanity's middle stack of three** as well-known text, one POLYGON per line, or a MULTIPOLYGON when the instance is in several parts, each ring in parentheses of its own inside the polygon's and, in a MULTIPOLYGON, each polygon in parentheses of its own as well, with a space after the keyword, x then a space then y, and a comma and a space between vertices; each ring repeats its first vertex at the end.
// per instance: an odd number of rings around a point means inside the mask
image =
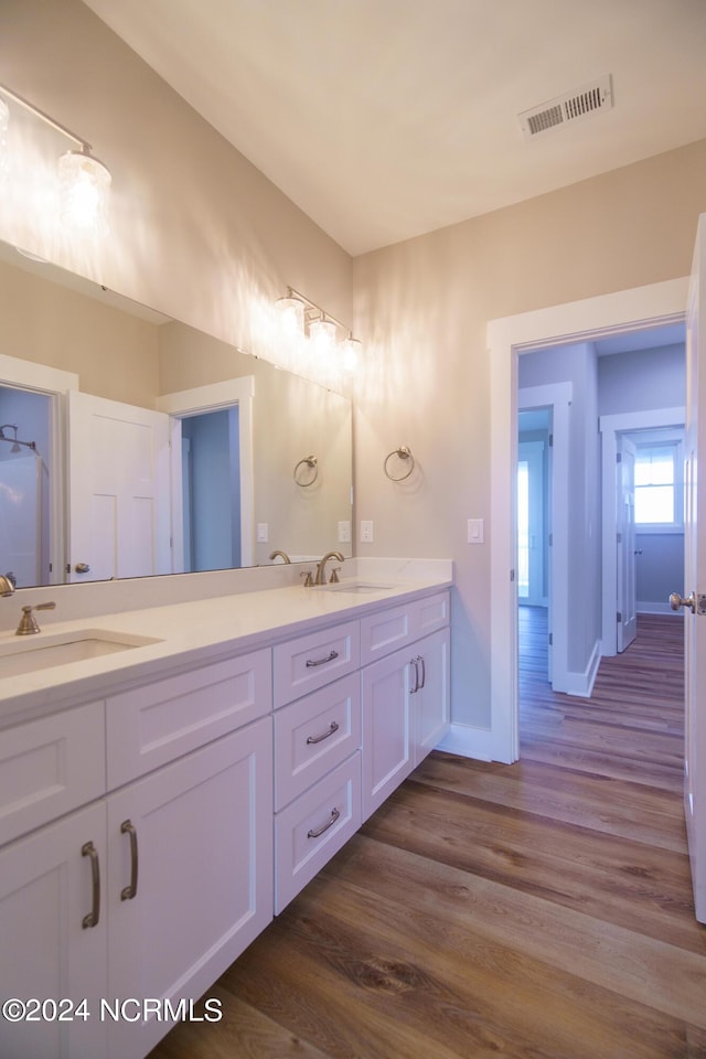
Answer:
POLYGON ((277 644, 274 654, 275 708, 357 670, 360 655, 357 621, 277 644))

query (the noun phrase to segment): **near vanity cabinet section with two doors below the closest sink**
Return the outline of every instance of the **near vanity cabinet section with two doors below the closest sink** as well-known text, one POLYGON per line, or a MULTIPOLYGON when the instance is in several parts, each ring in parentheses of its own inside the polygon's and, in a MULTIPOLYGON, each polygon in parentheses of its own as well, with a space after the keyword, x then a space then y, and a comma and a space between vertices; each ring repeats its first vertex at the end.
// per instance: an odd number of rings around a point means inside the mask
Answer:
POLYGON ((2 994, 66 997, 71 1019, 3 1019, 0 1055, 141 1059, 172 1024, 136 1017, 135 1002, 197 999, 272 918, 271 652, 3 738, 0 816, 34 805, 33 822, 36 806, 58 819, 0 849, 0 930, 13 954, 2 994), (77 723, 83 756, 72 751, 77 723), (60 816, 82 795, 93 801, 60 816), (114 1020, 101 999, 128 1001, 127 1017, 114 1020))

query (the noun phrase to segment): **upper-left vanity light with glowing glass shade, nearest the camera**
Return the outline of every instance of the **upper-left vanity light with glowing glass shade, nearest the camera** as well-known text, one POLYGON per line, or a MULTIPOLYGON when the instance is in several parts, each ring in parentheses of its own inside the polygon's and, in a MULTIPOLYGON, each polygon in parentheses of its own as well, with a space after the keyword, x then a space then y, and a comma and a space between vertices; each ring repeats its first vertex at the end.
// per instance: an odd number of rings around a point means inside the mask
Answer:
MULTIPOLYGON (((3 96, 78 145, 78 150, 66 151, 58 159, 61 220, 68 229, 76 234, 104 235, 107 232, 108 197, 111 182, 107 165, 92 153, 93 147, 87 140, 76 136, 65 125, 40 110, 39 107, 18 95, 17 92, 12 92, 6 85, 0 85, 0 150, 4 143, 6 159, 10 108, 3 96)), ((0 158, 0 170, 1 168, 2 160, 0 158)))

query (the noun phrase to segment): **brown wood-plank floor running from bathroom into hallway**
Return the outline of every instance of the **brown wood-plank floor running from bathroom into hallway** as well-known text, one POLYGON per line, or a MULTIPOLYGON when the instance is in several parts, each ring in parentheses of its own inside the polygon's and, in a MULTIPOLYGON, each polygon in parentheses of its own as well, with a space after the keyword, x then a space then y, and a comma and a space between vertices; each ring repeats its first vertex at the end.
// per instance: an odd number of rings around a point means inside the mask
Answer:
POLYGON ((434 752, 152 1059, 706 1057, 682 811, 682 622, 643 618, 591 699, 525 611, 522 757, 434 752))

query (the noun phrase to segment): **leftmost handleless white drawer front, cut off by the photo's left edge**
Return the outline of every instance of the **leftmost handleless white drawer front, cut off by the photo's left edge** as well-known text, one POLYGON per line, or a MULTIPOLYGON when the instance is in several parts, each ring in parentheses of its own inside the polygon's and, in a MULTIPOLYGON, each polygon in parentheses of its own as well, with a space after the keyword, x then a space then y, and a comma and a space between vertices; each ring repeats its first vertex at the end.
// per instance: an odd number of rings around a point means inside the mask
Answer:
POLYGON ((103 703, 7 729, 0 741, 0 844, 105 790, 103 703))

